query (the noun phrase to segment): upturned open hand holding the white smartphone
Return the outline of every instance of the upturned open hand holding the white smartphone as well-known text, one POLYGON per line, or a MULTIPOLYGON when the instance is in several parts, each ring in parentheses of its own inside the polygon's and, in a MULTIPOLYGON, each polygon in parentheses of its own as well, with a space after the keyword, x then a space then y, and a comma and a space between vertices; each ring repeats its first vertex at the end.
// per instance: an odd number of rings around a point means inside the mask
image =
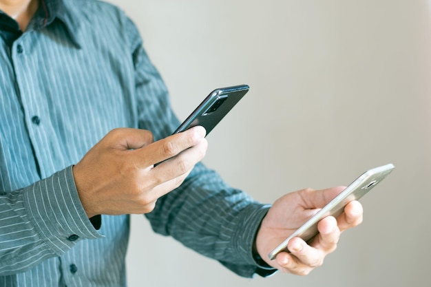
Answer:
POLYGON ((362 222, 363 211, 359 202, 347 204, 344 213, 337 219, 328 216, 321 220, 317 225, 319 234, 310 245, 295 237, 288 243, 291 253, 279 253, 274 260, 269 260, 268 254, 343 189, 303 189, 278 199, 262 220, 257 233, 256 248, 260 257, 278 270, 296 275, 307 275, 315 267, 321 266, 324 257, 337 248, 340 233, 362 222))

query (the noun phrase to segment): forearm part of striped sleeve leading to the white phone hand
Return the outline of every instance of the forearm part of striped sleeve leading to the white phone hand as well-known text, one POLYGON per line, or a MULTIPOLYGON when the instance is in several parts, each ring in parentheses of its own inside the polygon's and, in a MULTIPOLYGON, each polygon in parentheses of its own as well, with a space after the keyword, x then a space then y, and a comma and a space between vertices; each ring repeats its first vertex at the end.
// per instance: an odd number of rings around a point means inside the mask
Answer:
POLYGON ((257 264, 253 242, 269 207, 198 164, 181 187, 158 200, 147 217, 157 233, 176 238, 240 276, 268 276, 275 269, 257 264))

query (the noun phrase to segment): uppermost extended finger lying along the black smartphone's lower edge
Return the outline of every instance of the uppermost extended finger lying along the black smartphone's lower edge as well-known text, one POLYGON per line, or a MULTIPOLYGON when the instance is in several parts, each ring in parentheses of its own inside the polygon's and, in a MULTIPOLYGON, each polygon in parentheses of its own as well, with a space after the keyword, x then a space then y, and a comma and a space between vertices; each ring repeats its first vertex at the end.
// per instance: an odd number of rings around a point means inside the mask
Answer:
POLYGON ((205 137, 206 131, 203 127, 193 127, 180 134, 168 136, 157 142, 153 142, 141 151, 147 162, 157 164, 169 158, 177 156, 178 153, 193 147, 205 137))

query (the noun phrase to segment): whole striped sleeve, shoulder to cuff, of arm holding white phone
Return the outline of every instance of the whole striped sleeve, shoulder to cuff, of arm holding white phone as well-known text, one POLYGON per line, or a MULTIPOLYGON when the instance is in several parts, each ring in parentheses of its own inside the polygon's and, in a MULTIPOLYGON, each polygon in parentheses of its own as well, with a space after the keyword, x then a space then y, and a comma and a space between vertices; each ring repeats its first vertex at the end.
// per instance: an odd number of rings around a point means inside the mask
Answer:
MULTIPOLYGON (((179 125, 167 89, 131 21, 126 34, 136 69, 138 127, 153 132, 155 140, 165 138, 179 125)), ((198 164, 180 188, 158 200, 147 218, 157 233, 217 259, 238 275, 267 276, 275 269, 257 264, 252 250, 255 233, 268 209, 198 164)))

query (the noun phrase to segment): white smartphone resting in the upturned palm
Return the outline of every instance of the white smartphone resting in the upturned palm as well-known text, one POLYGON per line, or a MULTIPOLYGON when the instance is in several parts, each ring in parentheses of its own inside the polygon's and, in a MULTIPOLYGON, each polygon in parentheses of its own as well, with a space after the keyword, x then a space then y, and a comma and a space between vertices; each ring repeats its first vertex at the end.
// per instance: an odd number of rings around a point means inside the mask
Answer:
POLYGON ((386 178, 388 174, 395 169, 393 164, 386 164, 381 167, 369 169, 362 173, 359 178, 348 185, 344 191, 341 191, 333 200, 318 211, 313 217, 307 220, 301 227, 286 238, 280 245, 274 248, 268 255, 269 259, 273 260, 278 253, 287 251, 287 244, 293 237, 301 237, 304 241, 309 242, 317 235, 317 223, 324 217, 332 215, 337 217, 344 211, 344 206, 353 200, 359 200, 368 191, 375 187, 381 180, 386 178))

